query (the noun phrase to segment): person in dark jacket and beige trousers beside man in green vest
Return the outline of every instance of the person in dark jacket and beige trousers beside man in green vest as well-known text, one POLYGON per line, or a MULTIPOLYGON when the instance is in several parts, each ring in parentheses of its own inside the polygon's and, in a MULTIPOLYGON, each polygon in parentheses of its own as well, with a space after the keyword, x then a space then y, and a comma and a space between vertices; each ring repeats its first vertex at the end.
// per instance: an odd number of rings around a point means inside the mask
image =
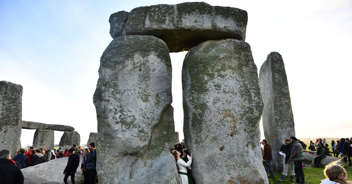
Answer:
MULTIPOLYGON (((314 144, 314 143, 313 143, 314 144)), ((290 180, 291 182, 294 182, 293 177, 295 176, 295 171, 294 171, 294 164, 293 161, 290 160, 290 153, 291 153, 291 141, 289 138, 285 138, 285 143, 281 145, 279 154, 283 156, 284 160, 284 169, 282 172, 282 177, 281 179, 277 180, 278 182, 286 182, 286 176, 287 172, 290 169, 290 180)))

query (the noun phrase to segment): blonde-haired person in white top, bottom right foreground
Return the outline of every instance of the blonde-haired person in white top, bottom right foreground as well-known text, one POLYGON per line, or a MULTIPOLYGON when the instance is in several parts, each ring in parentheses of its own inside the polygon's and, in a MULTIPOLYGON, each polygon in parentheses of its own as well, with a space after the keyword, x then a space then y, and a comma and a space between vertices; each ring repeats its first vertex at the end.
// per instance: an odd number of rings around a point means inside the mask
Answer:
POLYGON ((326 179, 321 180, 320 184, 352 184, 347 180, 346 170, 340 163, 340 160, 337 160, 325 166, 324 175, 326 179))

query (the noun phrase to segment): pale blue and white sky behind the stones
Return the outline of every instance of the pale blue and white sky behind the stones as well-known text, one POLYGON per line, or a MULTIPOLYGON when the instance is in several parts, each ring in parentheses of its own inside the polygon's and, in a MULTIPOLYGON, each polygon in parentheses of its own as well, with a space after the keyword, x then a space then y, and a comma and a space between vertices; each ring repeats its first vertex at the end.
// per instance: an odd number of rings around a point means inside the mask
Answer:
MULTIPOLYGON (((70 125, 86 144, 97 132, 93 94, 109 16, 187 1, 0 0, 0 81, 23 86, 22 120, 70 125)), ((352 1, 203 1, 248 13, 246 42, 258 67, 282 55, 297 138, 351 137, 352 1)), ((183 138, 181 68, 171 53, 175 131, 183 138)), ((262 123, 261 137, 264 138, 262 123)), ((32 145, 35 130, 22 130, 32 145)), ((55 144, 63 132, 55 131, 55 144)))

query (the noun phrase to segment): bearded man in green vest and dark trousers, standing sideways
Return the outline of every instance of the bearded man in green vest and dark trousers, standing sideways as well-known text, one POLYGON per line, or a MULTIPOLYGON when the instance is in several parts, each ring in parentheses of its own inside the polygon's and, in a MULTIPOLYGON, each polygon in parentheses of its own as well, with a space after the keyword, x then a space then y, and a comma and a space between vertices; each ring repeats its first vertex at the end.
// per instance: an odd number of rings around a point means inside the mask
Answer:
POLYGON ((292 142, 290 159, 295 165, 296 183, 304 183, 304 172, 302 169, 303 148, 302 145, 297 142, 295 136, 290 137, 290 141, 292 142))

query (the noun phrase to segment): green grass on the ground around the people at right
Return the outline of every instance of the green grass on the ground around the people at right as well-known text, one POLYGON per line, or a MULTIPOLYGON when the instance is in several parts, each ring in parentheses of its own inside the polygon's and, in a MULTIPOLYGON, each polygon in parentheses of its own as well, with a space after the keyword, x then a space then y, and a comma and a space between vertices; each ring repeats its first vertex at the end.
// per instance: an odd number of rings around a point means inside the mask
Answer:
MULTIPOLYGON (((320 184, 322 179, 325 179, 324 176, 324 168, 313 168, 310 166, 311 163, 304 163, 306 165, 306 169, 303 169, 304 173, 304 180, 306 184, 320 184)), ((344 165, 344 168, 346 169, 347 172, 347 178, 348 180, 352 180, 352 166, 347 166, 347 164, 344 165)), ((282 173, 275 173, 275 178, 268 178, 270 184, 283 184, 283 183, 295 183, 295 182, 289 182, 290 176, 288 175, 286 177, 287 182, 278 182, 277 180, 281 178, 282 173)), ((294 177, 294 180, 296 180, 296 176, 294 177)))

